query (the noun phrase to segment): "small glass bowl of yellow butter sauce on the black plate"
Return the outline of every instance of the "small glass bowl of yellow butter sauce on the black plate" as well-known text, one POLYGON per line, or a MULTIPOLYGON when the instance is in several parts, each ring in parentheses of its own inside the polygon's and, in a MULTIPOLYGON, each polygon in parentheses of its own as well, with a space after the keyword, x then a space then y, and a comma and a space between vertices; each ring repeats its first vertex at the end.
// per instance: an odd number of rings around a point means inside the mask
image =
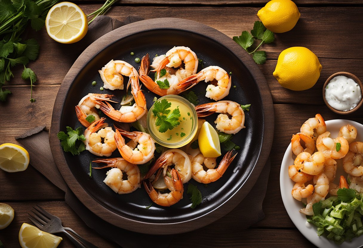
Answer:
POLYGON ((147 113, 147 129, 150 132, 151 137, 156 143, 166 146, 168 148, 179 148, 188 144, 196 135, 198 128, 198 116, 193 104, 187 99, 177 95, 167 95, 159 98, 156 102, 166 99, 171 103, 170 112, 175 108, 179 108, 180 124, 173 129, 168 129, 164 133, 159 132, 160 126, 156 126, 156 117, 152 110, 155 104, 151 106, 147 113))

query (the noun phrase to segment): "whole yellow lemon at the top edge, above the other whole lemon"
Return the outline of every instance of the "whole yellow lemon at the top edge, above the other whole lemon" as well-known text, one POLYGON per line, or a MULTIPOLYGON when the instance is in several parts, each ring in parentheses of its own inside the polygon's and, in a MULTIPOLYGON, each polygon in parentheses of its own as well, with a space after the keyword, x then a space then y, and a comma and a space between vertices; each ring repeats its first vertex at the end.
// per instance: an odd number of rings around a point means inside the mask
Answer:
POLYGON ((257 12, 257 16, 267 29, 284 33, 296 25, 300 12, 291 0, 271 0, 257 12))

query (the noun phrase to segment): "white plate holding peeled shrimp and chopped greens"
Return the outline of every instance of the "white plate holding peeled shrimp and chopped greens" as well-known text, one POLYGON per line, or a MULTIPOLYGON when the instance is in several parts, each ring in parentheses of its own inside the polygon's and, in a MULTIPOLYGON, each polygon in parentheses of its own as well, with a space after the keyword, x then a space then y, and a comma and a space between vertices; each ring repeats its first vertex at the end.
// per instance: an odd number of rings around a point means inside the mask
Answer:
MULTIPOLYGON (((351 124, 358 130, 358 135, 356 141, 363 141, 363 125, 350 120, 328 120, 325 121, 326 130, 330 132, 330 137, 337 137, 339 129, 343 125, 351 124)), ((298 131, 298 129, 297 129, 298 131)), ((293 134, 291 134, 293 135, 293 134)), ((295 184, 290 178, 288 173, 288 168, 290 165, 294 164, 295 155, 291 152, 291 143, 287 147, 284 158, 281 163, 280 170, 280 190, 282 202, 284 202, 287 214, 289 215, 292 222, 295 224, 297 229, 304 235, 311 243, 319 248, 327 247, 339 247, 339 248, 358 248, 363 244, 363 235, 358 238, 353 238, 352 242, 344 242, 341 245, 335 244, 333 241, 328 240, 325 236, 317 235, 317 228, 306 222, 306 215, 303 215, 299 210, 303 207, 302 203, 295 200, 291 195, 291 190, 295 184)), ((335 177, 335 183, 339 184, 339 176, 344 175, 346 177, 347 173, 344 172, 342 168, 341 160, 337 160, 338 169, 337 176, 335 177)))

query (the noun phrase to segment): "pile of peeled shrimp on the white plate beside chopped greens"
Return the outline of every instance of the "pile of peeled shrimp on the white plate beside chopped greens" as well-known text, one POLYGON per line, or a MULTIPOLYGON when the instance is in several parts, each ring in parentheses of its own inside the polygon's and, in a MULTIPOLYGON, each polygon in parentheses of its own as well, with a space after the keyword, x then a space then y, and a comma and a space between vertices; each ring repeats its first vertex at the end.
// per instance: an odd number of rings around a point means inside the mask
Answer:
POLYGON ((317 114, 291 138, 291 149, 296 155, 294 164, 289 166, 289 177, 295 182, 291 194, 298 201, 306 198, 307 205, 300 210, 305 215, 313 215, 313 204, 328 194, 337 195, 339 188, 355 187, 363 192, 363 142, 353 142, 357 129, 347 124, 340 128, 338 137, 329 136, 323 117, 317 114), (333 183, 339 159, 350 185, 343 175, 339 185, 333 183))

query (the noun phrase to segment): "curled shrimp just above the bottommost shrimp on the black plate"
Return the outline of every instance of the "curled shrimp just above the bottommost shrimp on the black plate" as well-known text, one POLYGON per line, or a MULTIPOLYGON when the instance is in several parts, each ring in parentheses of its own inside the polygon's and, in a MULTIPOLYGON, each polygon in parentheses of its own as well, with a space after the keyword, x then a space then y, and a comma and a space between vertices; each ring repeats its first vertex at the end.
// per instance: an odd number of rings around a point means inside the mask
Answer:
MULTIPOLYGON (((192 164, 188 154, 180 149, 170 149, 160 155, 155 164, 146 173, 145 179, 150 178, 159 168, 163 168, 164 182, 168 189, 172 190, 171 178, 166 176, 167 168, 171 165, 174 165, 174 169, 178 171, 182 183, 186 183, 192 178, 192 164)), ((155 178, 155 180, 157 179, 155 178)))

